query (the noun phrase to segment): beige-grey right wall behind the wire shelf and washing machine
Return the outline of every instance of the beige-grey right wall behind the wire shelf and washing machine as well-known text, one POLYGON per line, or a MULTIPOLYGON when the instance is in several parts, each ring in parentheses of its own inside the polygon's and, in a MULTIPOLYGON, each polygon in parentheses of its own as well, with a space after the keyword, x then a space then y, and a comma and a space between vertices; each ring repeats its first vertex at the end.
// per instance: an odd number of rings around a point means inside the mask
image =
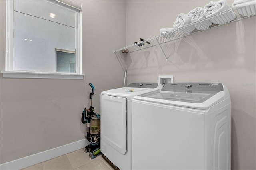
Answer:
MULTIPOLYGON (((127 1, 126 45, 172 28, 179 13, 209 1, 127 1)), ((231 5, 234 1, 228 1, 231 5)), ((127 84, 157 82, 220 82, 232 100, 232 169, 256 169, 256 16, 128 54, 127 84)))

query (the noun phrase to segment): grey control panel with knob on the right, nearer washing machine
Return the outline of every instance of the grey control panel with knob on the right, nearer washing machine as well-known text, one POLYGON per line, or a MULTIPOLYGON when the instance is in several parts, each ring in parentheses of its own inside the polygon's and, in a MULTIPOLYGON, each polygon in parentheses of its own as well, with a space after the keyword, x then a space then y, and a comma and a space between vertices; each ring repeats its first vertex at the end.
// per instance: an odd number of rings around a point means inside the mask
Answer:
POLYGON ((196 91, 223 91, 221 83, 168 83, 162 90, 175 91, 175 90, 196 90, 196 91))

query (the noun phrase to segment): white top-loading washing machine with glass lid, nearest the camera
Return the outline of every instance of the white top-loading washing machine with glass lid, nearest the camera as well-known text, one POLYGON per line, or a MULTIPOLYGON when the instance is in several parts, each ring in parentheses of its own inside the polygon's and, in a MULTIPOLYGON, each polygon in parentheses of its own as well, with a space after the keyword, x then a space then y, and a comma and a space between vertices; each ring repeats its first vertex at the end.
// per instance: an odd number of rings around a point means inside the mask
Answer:
POLYGON ((132 169, 230 170, 230 150, 222 83, 168 83, 132 100, 132 169))

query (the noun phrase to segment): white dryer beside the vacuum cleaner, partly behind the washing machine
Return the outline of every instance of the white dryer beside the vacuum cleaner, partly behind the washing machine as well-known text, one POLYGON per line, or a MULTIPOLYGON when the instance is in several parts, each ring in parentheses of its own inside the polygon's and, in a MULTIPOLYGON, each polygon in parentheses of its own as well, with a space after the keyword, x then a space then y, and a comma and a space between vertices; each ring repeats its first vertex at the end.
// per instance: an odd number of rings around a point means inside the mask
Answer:
POLYGON ((119 169, 132 168, 132 99, 161 89, 158 83, 131 83, 100 97, 100 150, 119 169))

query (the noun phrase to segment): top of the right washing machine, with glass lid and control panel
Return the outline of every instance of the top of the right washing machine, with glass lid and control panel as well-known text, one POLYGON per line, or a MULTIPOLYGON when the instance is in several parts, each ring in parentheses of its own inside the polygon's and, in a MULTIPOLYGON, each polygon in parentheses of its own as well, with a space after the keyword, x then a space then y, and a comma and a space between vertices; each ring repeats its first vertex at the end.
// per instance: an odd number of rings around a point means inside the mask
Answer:
POLYGON ((196 109, 208 109, 225 99, 221 83, 169 83, 134 99, 196 109))

